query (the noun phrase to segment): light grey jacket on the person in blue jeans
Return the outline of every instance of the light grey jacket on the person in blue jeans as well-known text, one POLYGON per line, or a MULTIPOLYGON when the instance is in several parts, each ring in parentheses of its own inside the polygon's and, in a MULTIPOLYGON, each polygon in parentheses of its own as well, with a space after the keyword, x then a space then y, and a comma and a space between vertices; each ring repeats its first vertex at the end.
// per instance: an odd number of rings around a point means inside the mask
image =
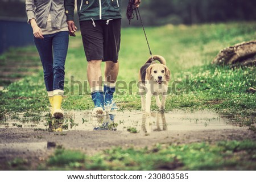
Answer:
POLYGON ((51 13, 53 30, 68 26, 64 0, 26 0, 28 23, 34 18, 40 28, 46 28, 49 13, 51 13))

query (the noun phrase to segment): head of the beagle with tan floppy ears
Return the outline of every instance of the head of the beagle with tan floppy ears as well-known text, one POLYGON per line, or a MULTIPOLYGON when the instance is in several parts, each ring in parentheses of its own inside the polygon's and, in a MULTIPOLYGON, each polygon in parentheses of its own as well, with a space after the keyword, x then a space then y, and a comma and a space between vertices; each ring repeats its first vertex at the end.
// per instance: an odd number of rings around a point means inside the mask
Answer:
POLYGON ((147 80, 152 79, 158 84, 162 84, 163 81, 170 81, 170 74, 170 69, 168 69, 167 66, 163 64, 151 64, 146 69, 147 80))

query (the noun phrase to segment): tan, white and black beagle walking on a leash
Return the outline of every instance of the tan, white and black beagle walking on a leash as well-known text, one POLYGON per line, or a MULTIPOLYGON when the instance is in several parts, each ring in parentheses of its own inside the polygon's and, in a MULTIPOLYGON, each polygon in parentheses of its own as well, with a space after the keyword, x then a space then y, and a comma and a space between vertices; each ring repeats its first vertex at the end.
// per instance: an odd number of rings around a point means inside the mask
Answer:
POLYGON ((142 110, 150 113, 153 95, 156 96, 156 105, 159 109, 161 111, 165 109, 168 81, 170 81, 170 69, 167 68, 164 57, 159 55, 149 57, 139 71, 138 87, 142 110), (156 64, 154 60, 158 60, 160 64, 156 64), (159 95, 162 95, 162 101, 159 95))

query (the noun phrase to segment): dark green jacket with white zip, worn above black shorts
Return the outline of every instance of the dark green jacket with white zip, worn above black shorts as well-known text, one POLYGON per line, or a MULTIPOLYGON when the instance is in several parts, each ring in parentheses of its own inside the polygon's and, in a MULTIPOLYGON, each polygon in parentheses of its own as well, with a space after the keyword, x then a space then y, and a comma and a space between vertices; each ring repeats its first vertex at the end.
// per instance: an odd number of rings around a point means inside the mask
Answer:
MULTIPOLYGON (((65 0, 67 20, 73 20, 75 0, 65 0)), ((79 21, 121 18, 121 0, 77 0, 79 21)))

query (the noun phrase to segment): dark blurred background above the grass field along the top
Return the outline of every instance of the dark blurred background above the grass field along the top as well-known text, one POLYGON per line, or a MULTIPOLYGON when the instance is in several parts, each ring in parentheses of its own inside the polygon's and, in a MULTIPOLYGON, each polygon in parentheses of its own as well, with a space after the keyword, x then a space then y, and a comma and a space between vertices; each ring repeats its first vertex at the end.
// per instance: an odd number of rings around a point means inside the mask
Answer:
MULTIPOLYGON (((110 0, 105 0, 110 1, 110 0)), ((25 0, 0 0, 0 16, 26 17, 25 0)), ((121 0, 123 26, 128 26, 126 7, 121 0)), ((255 0, 142 0, 140 12, 146 26, 198 24, 256 20, 255 0)), ((139 26, 133 20, 132 26, 139 26)))

